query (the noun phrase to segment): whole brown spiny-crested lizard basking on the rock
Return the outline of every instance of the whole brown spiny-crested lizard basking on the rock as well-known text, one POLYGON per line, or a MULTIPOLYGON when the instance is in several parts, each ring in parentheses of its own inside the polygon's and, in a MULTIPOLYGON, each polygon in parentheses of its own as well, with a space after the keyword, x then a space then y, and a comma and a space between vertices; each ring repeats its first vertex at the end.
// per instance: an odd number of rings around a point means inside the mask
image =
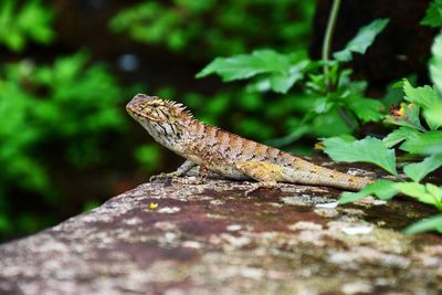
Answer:
POLYGON ((155 140, 187 159, 177 171, 162 176, 179 177, 199 165, 201 177, 210 170, 230 179, 259 181, 246 194, 277 182, 359 190, 373 181, 320 167, 201 123, 182 104, 172 101, 137 94, 126 109, 155 140))

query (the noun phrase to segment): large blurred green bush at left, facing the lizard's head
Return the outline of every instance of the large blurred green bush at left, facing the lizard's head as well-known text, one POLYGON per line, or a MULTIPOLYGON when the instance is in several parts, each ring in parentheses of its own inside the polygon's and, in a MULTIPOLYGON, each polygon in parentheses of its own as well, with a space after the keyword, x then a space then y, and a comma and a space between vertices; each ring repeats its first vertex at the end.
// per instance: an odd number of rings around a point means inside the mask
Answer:
POLYGON ((105 66, 87 60, 80 52, 52 65, 24 60, 0 69, 0 233, 46 225, 43 217, 14 215, 13 193, 56 208, 62 196, 52 175, 104 162, 106 134, 125 128, 122 88, 105 66))

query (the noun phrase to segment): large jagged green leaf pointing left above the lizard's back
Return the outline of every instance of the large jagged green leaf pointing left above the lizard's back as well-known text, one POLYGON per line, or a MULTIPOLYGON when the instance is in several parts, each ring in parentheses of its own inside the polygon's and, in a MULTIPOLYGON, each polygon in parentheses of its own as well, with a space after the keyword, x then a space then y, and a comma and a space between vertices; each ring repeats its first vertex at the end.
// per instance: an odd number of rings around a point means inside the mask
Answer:
POLYGON ((288 74, 287 55, 273 50, 257 50, 252 54, 218 57, 197 74, 197 78, 218 74, 224 82, 244 80, 262 73, 288 74))

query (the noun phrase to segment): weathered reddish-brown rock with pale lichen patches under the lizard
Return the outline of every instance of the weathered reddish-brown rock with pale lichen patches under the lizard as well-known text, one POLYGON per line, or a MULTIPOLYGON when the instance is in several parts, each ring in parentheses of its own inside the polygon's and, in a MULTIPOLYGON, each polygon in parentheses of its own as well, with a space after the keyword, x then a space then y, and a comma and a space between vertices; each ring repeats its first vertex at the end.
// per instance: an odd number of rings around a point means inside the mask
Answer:
POLYGON ((249 182, 145 183, 0 246, 1 294, 441 294, 435 211, 408 199, 338 206, 339 191, 249 182))

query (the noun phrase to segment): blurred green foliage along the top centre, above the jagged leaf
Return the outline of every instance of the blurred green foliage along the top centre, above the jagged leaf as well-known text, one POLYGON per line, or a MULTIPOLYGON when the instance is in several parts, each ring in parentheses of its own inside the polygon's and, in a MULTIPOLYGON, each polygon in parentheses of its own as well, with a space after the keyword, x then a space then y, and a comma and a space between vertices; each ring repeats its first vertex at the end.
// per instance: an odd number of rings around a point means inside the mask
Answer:
POLYGON ((149 0, 120 11, 109 28, 143 43, 208 57, 267 40, 283 50, 304 46, 313 12, 314 3, 301 0, 149 0))

